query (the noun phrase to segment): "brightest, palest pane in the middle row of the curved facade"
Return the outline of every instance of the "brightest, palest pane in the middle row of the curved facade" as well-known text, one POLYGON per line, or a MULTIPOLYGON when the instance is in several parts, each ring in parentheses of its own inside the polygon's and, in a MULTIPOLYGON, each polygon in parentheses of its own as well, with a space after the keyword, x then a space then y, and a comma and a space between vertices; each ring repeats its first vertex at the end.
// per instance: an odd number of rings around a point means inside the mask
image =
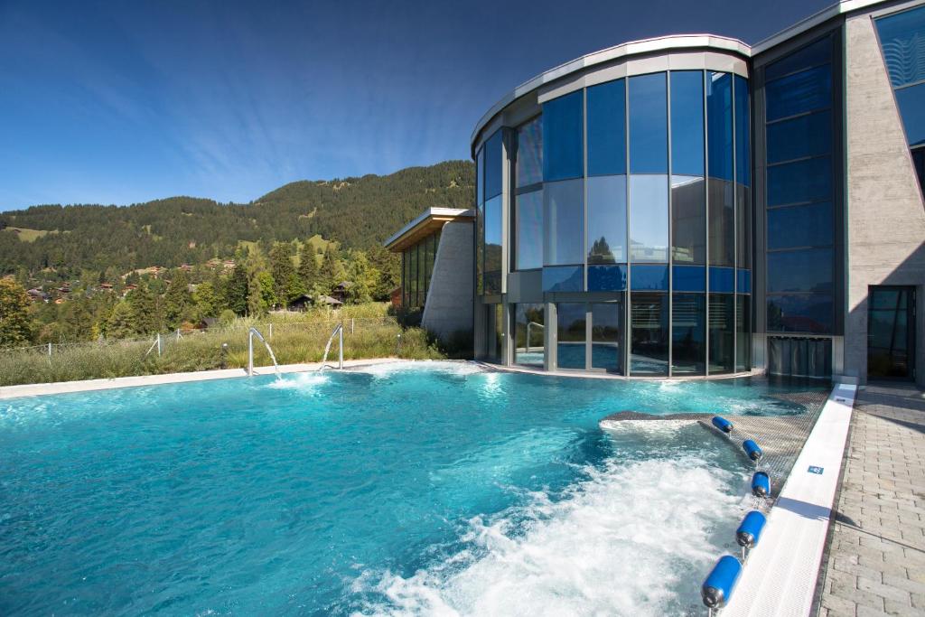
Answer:
POLYGON ((668 177, 630 177, 630 260, 668 262, 668 177))

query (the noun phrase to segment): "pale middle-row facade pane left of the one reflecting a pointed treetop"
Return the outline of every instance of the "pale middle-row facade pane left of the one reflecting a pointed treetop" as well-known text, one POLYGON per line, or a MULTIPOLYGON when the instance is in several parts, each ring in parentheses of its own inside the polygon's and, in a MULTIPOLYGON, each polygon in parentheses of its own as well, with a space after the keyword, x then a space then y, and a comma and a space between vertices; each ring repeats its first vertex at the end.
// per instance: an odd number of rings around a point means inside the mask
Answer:
POLYGON ((543 186, 544 265, 585 263, 584 182, 564 180, 543 186))

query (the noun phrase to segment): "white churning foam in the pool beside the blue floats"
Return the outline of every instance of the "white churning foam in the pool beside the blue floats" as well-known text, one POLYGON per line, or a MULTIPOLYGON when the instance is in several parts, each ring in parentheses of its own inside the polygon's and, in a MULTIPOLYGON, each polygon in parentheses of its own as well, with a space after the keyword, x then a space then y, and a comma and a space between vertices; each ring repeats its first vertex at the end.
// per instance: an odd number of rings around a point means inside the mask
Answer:
POLYGON ((365 572, 353 591, 376 599, 362 612, 701 612, 697 584, 728 549, 729 530, 718 527, 744 511, 742 492, 728 491, 740 478, 693 456, 586 472, 563 500, 537 493, 527 506, 476 517, 464 549, 412 576, 365 572))

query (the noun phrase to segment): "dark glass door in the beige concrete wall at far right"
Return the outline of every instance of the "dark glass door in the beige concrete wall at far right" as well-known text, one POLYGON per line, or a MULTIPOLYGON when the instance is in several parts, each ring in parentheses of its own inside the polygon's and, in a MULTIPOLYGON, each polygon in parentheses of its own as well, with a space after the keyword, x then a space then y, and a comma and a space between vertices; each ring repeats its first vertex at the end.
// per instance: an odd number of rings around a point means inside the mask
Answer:
POLYGON ((915 377, 916 294, 912 287, 870 287, 868 377, 915 377))

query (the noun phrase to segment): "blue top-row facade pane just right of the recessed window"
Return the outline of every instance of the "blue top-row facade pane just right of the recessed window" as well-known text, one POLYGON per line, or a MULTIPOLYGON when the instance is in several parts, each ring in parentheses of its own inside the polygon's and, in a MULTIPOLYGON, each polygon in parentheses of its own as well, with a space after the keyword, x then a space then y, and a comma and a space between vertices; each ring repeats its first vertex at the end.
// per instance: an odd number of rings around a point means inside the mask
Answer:
POLYGON ((543 104, 543 179, 581 178, 585 173, 582 142, 582 91, 543 104))

